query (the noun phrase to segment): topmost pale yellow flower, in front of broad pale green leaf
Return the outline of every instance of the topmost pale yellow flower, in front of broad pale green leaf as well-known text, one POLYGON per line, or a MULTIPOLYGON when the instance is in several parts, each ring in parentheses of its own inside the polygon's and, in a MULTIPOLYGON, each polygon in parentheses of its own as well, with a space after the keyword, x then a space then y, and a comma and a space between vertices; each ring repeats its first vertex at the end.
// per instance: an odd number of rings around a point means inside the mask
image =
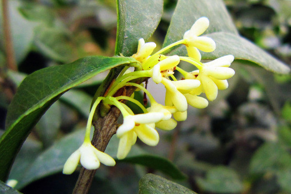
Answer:
POLYGON ((215 50, 215 42, 209 37, 198 37, 204 33, 209 27, 209 20, 201 17, 196 20, 191 29, 184 33, 183 39, 186 41, 186 49, 188 56, 198 61, 201 60, 199 50, 204 52, 212 52, 215 50), (199 50, 198 50, 199 49, 199 50))

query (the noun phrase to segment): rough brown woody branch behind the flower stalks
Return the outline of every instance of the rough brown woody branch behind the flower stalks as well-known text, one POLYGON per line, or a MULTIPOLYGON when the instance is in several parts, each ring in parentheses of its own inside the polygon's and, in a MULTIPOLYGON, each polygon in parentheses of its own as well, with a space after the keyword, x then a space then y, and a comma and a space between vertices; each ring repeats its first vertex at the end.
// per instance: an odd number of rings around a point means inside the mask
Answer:
MULTIPOLYGON (((126 96, 131 96, 135 89, 136 88, 132 86, 126 87, 126 96)), ((95 146, 98 150, 102 152, 105 151, 111 137, 116 132, 116 121, 119 115, 119 109, 113 107, 105 117, 98 118, 97 121, 93 123, 95 131, 92 139, 92 145, 95 146)), ((97 170, 87 170, 82 167, 73 194, 87 194, 96 171, 97 170)))

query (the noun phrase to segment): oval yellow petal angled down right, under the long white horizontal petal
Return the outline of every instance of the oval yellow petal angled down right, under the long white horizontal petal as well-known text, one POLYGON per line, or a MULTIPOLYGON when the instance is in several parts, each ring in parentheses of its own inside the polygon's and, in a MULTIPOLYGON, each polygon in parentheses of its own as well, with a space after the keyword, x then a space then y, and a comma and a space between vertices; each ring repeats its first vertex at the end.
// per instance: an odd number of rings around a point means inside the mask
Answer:
POLYGON ((148 146, 157 146, 160 137, 156 129, 144 124, 134 128, 138 138, 148 146))

